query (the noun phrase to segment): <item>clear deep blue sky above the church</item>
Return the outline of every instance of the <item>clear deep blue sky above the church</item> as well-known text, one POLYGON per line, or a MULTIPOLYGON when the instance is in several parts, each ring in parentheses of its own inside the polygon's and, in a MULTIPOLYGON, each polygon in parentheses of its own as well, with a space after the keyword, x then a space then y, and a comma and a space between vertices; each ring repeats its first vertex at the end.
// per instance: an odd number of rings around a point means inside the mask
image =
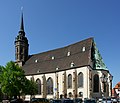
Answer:
POLYGON ((15 60, 22 6, 29 54, 94 37, 113 86, 120 81, 120 0, 0 0, 0 65, 15 60))

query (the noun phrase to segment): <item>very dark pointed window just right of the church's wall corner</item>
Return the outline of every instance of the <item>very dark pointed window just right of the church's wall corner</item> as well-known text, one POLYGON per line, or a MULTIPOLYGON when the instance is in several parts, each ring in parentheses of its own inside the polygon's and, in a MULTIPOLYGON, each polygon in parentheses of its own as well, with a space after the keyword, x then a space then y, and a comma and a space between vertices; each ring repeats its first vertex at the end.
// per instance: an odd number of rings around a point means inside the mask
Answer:
POLYGON ((95 74, 93 77, 93 92, 99 92, 99 76, 95 74))

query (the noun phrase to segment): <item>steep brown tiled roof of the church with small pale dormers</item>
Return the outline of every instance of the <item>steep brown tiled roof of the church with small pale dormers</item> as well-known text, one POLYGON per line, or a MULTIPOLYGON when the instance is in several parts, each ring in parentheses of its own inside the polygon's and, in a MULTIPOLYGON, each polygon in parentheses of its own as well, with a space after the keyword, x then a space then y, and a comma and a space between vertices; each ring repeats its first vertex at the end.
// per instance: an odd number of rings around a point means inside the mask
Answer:
POLYGON ((26 75, 55 72, 74 67, 90 65, 93 38, 47 52, 32 55, 23 65, 26 75), (69 52, 69 53, 68 53, 69 52), (69 56, 68 56, 69 55, 69 56))

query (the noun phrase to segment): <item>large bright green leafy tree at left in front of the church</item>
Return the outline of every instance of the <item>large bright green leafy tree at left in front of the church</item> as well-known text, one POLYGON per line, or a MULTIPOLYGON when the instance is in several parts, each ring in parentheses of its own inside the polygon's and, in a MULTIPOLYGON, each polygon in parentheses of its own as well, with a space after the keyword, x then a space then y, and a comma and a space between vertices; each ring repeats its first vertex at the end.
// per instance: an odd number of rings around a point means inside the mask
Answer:
MULTIPOLYGON (((35 88, 30 86, 32 83, 25 75, 23 69, 21 69, 13 61, 8 62, 5 67, 0 67, 0 83, 2 93, 11 97, 17 97, 22 94, 29 94, 29 92, 35 88)), ((35 84, 35 83, 34 83, 35 84)), ((34 93, 34 91, 33 91, 34 93)))

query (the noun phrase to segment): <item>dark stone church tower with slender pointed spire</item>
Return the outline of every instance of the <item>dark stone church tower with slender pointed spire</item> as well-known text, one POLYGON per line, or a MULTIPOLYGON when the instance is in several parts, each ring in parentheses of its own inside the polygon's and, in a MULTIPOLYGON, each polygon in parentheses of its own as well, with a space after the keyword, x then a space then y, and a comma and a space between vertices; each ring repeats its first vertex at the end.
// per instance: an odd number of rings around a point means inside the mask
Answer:
POLYGON ((23 13, 21 16, 21 25, 20 31, 18 32, 17 37, 15 38, 15 60, 20 66, 24 65, 28 59, 28 39, 25 37, 24 31, 24 22, 23 22, 23 13))

